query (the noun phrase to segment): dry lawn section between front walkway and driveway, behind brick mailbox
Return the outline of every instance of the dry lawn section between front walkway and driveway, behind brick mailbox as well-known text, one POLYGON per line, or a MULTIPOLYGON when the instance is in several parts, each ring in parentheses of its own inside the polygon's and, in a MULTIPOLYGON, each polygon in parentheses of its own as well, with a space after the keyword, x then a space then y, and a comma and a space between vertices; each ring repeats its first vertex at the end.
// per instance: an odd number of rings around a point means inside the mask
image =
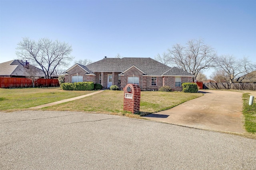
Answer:
MULTIPOLYGON (((201 93, 182 92, 141 92, 140 113, 145 115, 170 109, 202 95, 201 93)), ((129 115, 129 112, 123 111, 123 98, 123 91, 106 90, 79 100, 44 107, 42 110, 86 111, 90 113, 129 115)), ((136 115, 131 116, 137 117, 136 115)))

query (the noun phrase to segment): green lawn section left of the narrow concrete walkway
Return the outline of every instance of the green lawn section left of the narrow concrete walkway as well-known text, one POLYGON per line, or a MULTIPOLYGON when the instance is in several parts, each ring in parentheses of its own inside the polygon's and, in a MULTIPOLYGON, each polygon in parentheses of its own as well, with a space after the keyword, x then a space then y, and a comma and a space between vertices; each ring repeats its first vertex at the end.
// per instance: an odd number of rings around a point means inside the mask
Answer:
POLYGON ((24 109, 91 92, 93 91, 65 91, 60 88, 0 88, 0 110, 24 109))

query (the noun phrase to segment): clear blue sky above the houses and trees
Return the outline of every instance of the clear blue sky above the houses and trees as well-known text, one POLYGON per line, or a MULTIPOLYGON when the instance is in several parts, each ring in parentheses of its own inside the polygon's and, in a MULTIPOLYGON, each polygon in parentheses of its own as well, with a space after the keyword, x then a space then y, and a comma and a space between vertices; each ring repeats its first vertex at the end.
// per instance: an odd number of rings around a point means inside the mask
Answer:
MULTIPOLYGON (((16 59, 22 37, 72 45, 74 60, 154 57, 204 39, 218 55, 256 62, 256 0, 0 0, 0 63, 16 59)), ((72 63, 73 64, 73 63, 72 63)))

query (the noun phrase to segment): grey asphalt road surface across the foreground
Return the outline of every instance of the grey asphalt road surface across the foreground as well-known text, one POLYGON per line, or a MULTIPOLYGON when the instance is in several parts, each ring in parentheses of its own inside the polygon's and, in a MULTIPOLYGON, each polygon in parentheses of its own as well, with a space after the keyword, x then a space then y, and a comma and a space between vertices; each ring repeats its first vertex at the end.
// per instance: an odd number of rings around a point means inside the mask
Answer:
POLYGON ((0 169, 256 169, 256 140, 115 115, 0 112, 0 169))

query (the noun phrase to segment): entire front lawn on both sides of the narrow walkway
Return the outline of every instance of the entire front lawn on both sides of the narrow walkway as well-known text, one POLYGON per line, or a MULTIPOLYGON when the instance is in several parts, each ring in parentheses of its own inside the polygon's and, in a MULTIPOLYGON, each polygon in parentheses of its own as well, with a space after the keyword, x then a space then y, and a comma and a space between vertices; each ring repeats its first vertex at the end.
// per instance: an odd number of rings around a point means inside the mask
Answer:
MULTIPOLYGON (((18 110, 81 96, 94 91, 67 91, 60 88, 0 89, 0 110, 18 110)), ((170 109, 188 100, 202 96, 201 93, 141 92, 140 114, 146 115, 170 109)), ((105 90, 86 98, 44 107, 41 110, 85 111, 116 115, 136 115, 123 111, 123 91, 105 90)), ((138 116, 138 115, 137 115, 138 116)))

